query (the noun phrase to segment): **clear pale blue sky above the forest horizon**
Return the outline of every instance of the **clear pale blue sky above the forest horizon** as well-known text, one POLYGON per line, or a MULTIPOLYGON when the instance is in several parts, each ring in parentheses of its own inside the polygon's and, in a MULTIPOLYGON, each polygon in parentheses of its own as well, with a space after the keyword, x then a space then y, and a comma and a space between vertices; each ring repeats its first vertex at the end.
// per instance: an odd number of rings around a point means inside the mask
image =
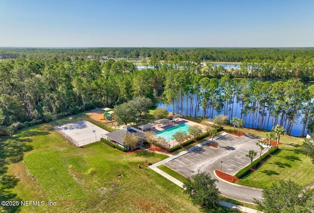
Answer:
POLYGON ((314 0, 0 0, 0 47, 314 47, 314 0))

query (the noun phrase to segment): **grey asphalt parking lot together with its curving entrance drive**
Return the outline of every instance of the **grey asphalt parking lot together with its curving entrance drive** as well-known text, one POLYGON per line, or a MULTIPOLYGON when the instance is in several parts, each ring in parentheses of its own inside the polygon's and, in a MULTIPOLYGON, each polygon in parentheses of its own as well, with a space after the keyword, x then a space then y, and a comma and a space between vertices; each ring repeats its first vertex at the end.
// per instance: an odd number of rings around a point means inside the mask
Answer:
MULTIPOLYGON (((227 174, 235 175, 237 171, 250 163, 250 159, 245 157, 249 150, 257 151, 258 155, 255 159, 259 157, 260 148, 256 145, 258 140, 261 139, 251 135, 244 135, 239 138, 226 135, 214 141, 219 146, 218 149, 204 145, 169 161, 165 166, 186 177, 191 177, 200 170, 207 171, 212 178, 216 178, 215 169, 222 169, 227 174)), ((264 149, 262 154, 265 152, 267 149, 264 149)), ((222 195, 246 203, 253 203, 253 198, 262 199, 262 189, 243 187, 226 183, 223 180, 218 181, 217 188, 222 195)))

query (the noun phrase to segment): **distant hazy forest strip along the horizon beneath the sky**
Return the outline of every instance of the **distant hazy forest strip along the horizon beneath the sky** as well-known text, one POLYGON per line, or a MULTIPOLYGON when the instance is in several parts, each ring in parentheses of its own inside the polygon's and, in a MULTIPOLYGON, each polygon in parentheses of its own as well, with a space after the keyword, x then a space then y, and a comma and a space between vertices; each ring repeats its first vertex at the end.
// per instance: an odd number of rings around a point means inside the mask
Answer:
POLYGON ((0 59, 82 57, 104 60, 109 57, 165 60, 176 56, 190 60, 216 62, 243 62, 245 59, 291 62, 296 58, 309 61, 314 58, 314 48, 0 48, 0 59))

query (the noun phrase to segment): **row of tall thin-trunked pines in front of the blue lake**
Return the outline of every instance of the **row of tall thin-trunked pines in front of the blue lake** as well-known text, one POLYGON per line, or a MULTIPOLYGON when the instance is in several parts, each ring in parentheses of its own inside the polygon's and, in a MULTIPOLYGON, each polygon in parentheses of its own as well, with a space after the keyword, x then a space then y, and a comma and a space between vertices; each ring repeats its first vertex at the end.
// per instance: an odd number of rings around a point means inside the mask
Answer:
POLYGON ((301 135, 307 133, 306 129, 313 131, 314 86, 307 87, 296 79, 271 83, 229 75, 220 79, 209 78, 183 70, 170 70, 166 75, 164 94, 172 111, 185 116, 197 117, 200 108, 203 109, 203 119, 214 118, 215 114, 231 119, 240 112, 240 119, 247 121, 250 128, 265 129, 270 124, 279 124, 290 134, 302 114, 301 135))

